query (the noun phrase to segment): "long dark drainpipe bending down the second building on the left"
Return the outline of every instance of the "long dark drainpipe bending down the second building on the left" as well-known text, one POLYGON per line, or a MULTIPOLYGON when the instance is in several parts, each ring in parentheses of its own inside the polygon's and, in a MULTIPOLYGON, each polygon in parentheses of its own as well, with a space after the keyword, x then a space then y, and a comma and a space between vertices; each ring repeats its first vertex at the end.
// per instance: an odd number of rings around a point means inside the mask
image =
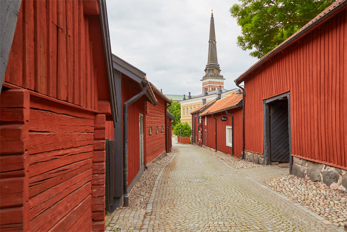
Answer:
POLYGON ((134 103, 137 99, 139 99, 142 95, 144 95, 147 91, 148 83, 146 80, 142 80, 142 91, 127 100, 124 103, 124 132, 123 132, 123 188, 124 188, 124 206, 129 206, 129 194, 128 194, 128 111, 129 105, 134 103))

